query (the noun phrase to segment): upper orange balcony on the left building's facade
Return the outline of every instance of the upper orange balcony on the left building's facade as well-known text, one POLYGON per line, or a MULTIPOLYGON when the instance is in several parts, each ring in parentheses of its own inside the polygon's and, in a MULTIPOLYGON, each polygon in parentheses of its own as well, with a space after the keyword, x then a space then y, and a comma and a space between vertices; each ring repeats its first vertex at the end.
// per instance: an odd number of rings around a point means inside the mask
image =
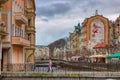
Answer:
POLYGON ((22 12, 15 12, 15 20, 21 24, 27 24, 28 20, 22 12))

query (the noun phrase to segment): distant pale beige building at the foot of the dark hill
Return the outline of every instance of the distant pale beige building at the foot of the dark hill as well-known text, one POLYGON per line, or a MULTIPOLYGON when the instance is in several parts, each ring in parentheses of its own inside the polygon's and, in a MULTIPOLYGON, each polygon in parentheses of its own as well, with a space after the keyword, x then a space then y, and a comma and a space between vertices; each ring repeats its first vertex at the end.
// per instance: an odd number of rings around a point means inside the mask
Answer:
POLYGON ((49 59, 49 47, 37 45, 35 47, 35 59, 49 59))

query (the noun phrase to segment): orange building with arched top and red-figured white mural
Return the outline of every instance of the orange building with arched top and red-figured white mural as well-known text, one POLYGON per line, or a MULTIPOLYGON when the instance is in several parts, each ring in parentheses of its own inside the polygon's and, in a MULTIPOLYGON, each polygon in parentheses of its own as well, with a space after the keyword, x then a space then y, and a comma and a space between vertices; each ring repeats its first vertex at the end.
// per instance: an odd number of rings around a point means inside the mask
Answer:
MULTIPOLYGON (((98 14, 86 18, 82 23, 81 40, 81 47, 84 46, 86 50, 93 49, 97 44, 108 45, 109 20, 98 14)), ((88 52, 86 54, 89 55, 88 52)))

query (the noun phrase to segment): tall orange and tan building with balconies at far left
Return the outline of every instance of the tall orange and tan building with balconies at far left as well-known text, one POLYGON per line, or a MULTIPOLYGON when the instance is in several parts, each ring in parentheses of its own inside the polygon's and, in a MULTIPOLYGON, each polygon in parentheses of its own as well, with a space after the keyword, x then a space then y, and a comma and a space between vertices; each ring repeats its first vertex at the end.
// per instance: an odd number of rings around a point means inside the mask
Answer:
POLYGON ((2 9, 1 20, 8 34, 2 41, 2 67, 4 64, 34 63, 35 1, 7 0, 2 9))

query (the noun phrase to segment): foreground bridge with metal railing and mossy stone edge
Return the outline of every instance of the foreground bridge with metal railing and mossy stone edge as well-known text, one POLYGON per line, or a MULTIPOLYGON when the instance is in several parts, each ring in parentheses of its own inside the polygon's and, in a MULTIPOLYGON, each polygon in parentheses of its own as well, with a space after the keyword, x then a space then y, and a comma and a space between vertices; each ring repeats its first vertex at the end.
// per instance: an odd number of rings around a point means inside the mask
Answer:
POLYGON ((53 61, 53 72, 48 72, 48 61, 36 64, 4 65, 0 80, 119 80, 120 64, 53 61), (94 79, 93 79, 94 78, 94 79))

